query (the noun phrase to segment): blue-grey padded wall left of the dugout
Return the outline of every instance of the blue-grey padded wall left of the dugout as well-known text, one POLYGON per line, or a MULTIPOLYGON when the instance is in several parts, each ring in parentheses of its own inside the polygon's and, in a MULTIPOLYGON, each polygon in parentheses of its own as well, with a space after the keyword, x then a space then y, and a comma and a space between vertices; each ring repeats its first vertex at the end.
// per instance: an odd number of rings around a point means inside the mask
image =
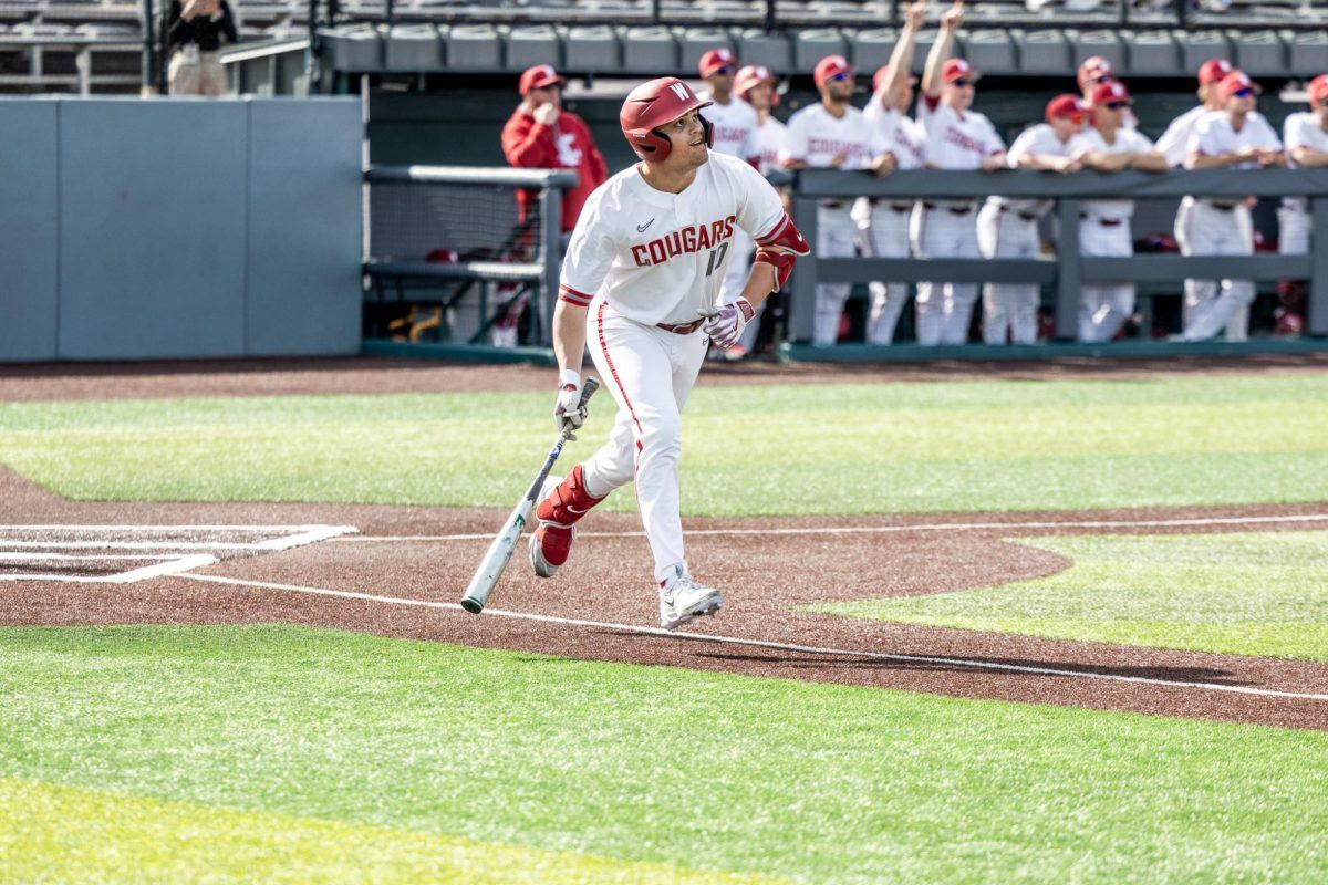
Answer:
POLYGON ((0 131, 0 361, 359 350, 359 100, 9 100, 0 131))

